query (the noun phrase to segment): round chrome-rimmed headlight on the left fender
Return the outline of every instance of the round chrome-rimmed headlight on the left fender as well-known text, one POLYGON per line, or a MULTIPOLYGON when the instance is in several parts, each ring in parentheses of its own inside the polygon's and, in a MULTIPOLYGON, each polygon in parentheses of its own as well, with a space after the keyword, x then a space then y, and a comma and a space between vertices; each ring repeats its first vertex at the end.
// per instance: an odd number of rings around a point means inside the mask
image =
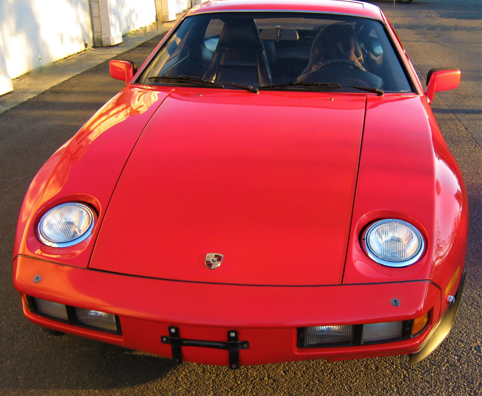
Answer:
POLYGON ((79 202, 68 202, 50 209, 37 226, 40 241, 48 246, 78 244, 94 229, 94 212, 79 202))

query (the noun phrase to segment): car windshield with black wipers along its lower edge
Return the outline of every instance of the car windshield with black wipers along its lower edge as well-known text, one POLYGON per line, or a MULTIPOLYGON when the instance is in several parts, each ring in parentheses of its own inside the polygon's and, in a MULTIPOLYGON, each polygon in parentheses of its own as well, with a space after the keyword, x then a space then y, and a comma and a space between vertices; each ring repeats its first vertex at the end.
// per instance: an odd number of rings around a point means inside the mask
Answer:
POLYGON ((379 21, 316 13, 189 16, 137 82, 218 89, 412 92, 379 21))

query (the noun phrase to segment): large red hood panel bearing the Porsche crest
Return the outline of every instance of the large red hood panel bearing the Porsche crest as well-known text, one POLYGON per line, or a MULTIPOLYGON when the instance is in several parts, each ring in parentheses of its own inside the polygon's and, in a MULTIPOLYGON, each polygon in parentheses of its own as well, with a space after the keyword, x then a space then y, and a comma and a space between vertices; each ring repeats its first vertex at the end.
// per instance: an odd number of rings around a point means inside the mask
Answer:
POLYGON ((89 267, 255 285, 341 284, 365 96, 173 92, 137 142, 89 267), (209 270, 206 254, 220 253, 209 270))

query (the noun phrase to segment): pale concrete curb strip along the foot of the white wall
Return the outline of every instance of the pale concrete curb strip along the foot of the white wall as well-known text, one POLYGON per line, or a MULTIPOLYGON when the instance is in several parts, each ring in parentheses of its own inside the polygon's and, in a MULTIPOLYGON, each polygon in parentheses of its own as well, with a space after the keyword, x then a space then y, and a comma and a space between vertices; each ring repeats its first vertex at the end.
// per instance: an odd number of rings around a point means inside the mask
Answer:
MULTIPOLYGON (((40 66, 13 80, 13 91, 0 96, 0 114, 53 86, 93 68, 116 55, 168 31, 176 21, 154 23, 122 36, 122 42, 112 47, 87 48, 85 51, 40 66)), ((139 65, 140 66, 140 65, 139 65)))

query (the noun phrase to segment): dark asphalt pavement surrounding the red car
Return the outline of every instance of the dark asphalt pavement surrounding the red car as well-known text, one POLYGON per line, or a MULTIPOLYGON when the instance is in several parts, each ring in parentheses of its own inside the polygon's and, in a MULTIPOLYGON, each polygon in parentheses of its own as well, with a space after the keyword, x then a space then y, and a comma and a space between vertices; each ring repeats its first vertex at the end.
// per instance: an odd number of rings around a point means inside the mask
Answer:
MULTIPOLYGON (((390 0, 375 4, 392 20, 390 0)), ((40 166, 122 89, 105 61, 0 114, 0 395, 482 395, 482 4, 397 3, 395 29, 422 81, 429 68, 462 70, 460 87, 437 94, 432 109, 469 194, 468 275, 455 326, 432 355, 414 366, 407 356, 176 366, 28 322, 12 285, 18 210, 40 166)), ((141 64, 159 40, 116 57, 141 64)))

